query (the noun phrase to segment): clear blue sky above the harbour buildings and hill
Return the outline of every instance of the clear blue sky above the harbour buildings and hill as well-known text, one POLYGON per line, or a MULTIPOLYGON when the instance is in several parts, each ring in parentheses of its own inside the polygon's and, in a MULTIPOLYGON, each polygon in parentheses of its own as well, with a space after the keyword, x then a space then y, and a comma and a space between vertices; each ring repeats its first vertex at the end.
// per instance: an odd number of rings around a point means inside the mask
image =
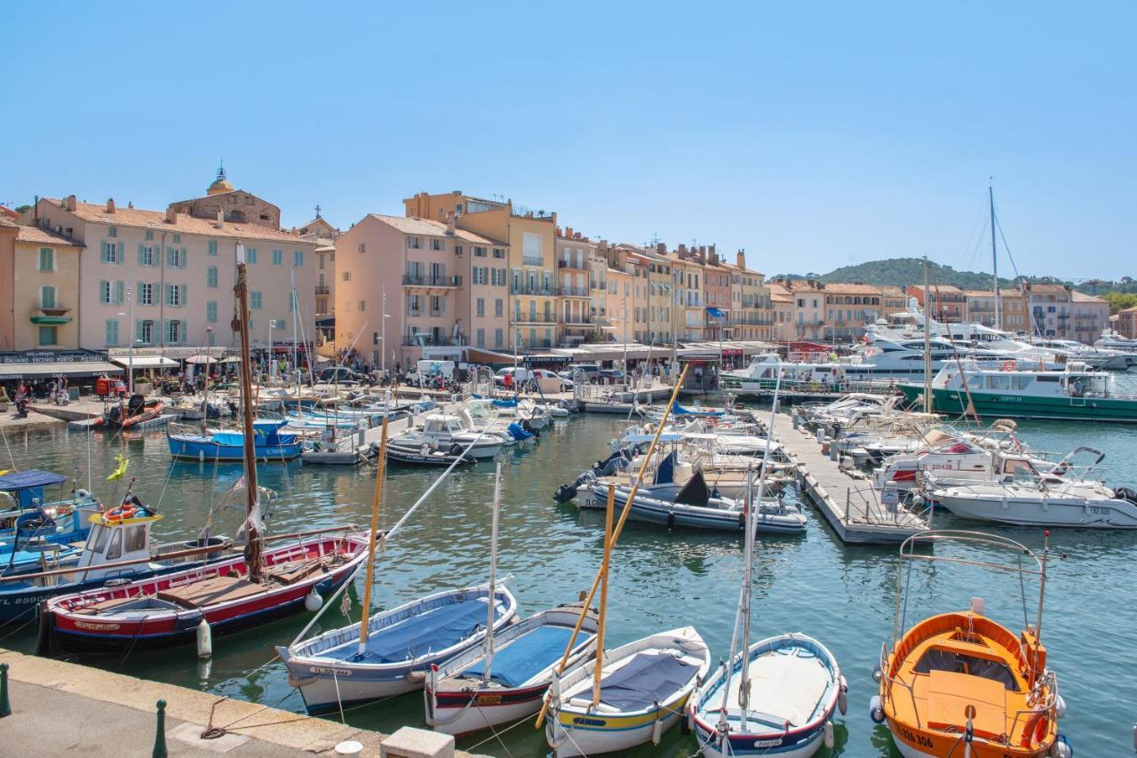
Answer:
POLYGON ((1137 274, 1137 5, 0 6, 0 201, 231 180, 347 228, 500 193, 767 273, 1137 274), (1004 258, 1001 272, 1009 271, 1004 258))

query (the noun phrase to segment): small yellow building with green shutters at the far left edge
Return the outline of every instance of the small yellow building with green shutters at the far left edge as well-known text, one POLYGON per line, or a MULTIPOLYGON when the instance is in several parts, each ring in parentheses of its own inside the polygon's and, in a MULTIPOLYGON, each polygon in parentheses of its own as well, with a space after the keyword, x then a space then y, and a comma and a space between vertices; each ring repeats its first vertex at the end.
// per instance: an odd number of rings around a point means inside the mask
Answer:
POLYGON ((0 248, 2 278, 11 282, 0 328, 0 349, 78 347, 81 245, 38 226, 16 226, 0 248), (7 259, 6 259, 7 258, 7 259))

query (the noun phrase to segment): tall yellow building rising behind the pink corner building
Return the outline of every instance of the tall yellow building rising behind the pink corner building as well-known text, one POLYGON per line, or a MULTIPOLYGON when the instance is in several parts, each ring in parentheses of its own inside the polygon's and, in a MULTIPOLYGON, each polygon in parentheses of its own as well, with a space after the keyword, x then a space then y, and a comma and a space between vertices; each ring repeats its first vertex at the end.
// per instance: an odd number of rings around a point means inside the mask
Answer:
POLYGON ((557 293, 557 214, 514 207, 463 195, 420 192, 404 201, 409 217, 446 222, 451 216, 459 229, 500 240, 493 254, 509 263, 509 346, 520 352, 547 349, 561 343, 561 302, 557 293))

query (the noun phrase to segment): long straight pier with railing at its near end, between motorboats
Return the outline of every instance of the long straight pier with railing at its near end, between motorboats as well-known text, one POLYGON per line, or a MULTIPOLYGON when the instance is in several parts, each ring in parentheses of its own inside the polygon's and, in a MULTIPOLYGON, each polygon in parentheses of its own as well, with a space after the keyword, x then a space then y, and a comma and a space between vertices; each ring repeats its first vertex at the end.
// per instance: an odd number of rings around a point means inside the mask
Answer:
POLYGON ((774 439, 797 463, 798 489, 818 506, 846 544, 897 544, 928 528, 923 517, 901 505, 885 505, 871 481, 841 470, 821 452, 816 437, 794 429, 786 413, 774 414, 774 439))

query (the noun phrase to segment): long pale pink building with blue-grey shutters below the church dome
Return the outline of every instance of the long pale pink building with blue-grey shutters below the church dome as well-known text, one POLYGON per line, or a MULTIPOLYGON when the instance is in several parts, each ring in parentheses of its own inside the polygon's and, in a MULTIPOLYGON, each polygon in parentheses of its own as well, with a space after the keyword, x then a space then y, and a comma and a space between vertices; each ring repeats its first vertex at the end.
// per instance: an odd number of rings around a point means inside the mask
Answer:
POLYGON ((84 248, 80 347, 133 343, 179 355, 202 345, 235 345, 230 321, 239 245, 249 263, 254 347, 267 347, 269 333, 277 346, 291 339, 293 315, 302 335, 310 339, 314 333, 316 245, 280 231, 276 206, 232 189, 223 175, 207 197, 165 212, 119 207, 114 200, 80 203, 72 195, 41 199, 24 222, 84 248))

